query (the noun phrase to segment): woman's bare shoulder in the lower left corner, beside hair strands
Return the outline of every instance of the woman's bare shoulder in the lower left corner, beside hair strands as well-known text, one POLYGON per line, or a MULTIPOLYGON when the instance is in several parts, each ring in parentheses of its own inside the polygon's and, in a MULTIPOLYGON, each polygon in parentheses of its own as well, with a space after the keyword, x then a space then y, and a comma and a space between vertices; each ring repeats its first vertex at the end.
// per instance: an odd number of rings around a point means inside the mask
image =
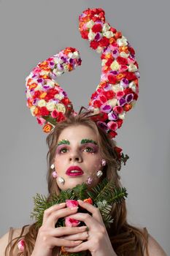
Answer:
MULTIPOLYGON (((21 230, 22 228, 14 228, 12 230, 12 239, 20 236, 21 230)), ((26 230, 24 233, 27 233, 27 232, 28 232, 28 227, 26 227, 26 230)), ((1 256, 5 256, 5 249, 7 248, 8 244, 9 244, 9 231, 0 238, 0 255, 1 256)), ((7 252, 9 252, 9 250, 7 252)), ((15 256, 15 252, 13 255, 15 256)))

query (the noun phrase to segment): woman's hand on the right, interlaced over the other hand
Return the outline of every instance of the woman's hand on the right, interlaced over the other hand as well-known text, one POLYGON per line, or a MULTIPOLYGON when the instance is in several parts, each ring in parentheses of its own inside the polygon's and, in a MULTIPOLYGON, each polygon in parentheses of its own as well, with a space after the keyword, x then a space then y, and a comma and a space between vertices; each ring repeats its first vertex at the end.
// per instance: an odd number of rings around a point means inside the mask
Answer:
MULTIPOLYGON (((95 206, 90 203, 85 203, 82 200, 78 200, 79 205, 89 211, 90 214, 77 213, 72 214, 73 219, 77 219, 81 222, 85 222, 88 226, 87 232, 78 233, 64 238, 69 240, 87 240, 74 247, 64 247, 67 252, 81 252, 89 250, 92 256, 116 256, 115 251, 112 249, 112 244, 109 240, 109 236, 104 225, 101 213, 95 206)), ((70 216, 70 217, 71 217, 70 216)))

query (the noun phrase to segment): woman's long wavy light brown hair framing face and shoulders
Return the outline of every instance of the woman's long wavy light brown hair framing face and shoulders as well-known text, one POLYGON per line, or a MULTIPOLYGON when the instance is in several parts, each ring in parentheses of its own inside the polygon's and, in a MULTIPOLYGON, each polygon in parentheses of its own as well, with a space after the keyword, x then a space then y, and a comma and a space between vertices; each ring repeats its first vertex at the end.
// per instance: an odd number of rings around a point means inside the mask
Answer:
MULTIPOLYGON (((116 145, 115 141, 111 140, 109 135, 107 135, 103 129, 96 125, 96 122, 90 118, 89 113, 80 113, 77 116, 68 115, 64 121, 58 123, 55 126, 53 131, 50 132, 50 134, 47 136, 46 140, 49 148, 47 153, 47 184, 49 200, 50 195, 53 195, 53 193, 60 193, 60 189, 58 188, 58 185, 52 176, 53 170, 50 168, 54 161, 55 147, 56 143, 58 142, 58 137, 66 127, 77 126, 80 124, 90 127, 96 132, 98 145, 101 149, 101 157, 106 159, 107 162, 107 165, 104 166, 104 176, 102 177, 107 177, 109 181, 114 181, 116 187, 122 187, 120 183, 120 176, 118 174, 118 170, 120 170, 121 167, 121 162, 117 152, 114 149, 116 145)), ((112 206, 112 217, 114 222, 112 222, 112 225, 107 228, 107 232, 116 254, 118 256, 143 255, 144 248, 147 248, 147 238, 144 236, 142 230, 128 224, 125 200, 123 200, 122 203, 112 206)), ((12 251, 15 246, 17 246, 20 238, 25 239, 26 248, 24 249, 23 253, 19 252, 18 256, 30 256, 34 249, 37 233, 38 229, 36 228, 36 223, 34 223, 29 227, 28 233, 26 233, 26 235, 23 236, 23 233, 21 233, 18 238, 15 238, 16 241, 10 249, 9 256, 12 256, 12 251)))

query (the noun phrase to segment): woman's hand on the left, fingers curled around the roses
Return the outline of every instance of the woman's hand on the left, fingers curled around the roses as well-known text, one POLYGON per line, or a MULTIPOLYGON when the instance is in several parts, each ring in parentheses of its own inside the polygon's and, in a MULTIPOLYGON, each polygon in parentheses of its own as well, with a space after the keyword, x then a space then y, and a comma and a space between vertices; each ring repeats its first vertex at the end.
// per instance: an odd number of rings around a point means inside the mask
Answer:
POLYGON ((55 246, 77 246, 82 241, 72 241, 62 236, 85 232, 83 227, 55 227, 58 219, 77 213, 77 207, 66 208, 66 203, 51 206, 44 212, 42 226, 36 237, 36 243, 31 256, 52 256, 55 246))

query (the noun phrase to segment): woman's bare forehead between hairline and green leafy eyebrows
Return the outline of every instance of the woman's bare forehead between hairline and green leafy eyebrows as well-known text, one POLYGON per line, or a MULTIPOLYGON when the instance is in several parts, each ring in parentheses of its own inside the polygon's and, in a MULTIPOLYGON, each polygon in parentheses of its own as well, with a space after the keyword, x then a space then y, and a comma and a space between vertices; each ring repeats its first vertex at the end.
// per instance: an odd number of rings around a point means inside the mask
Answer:
POLYGON ((97 135, 90 127, 86 127, 85 125, 77 125, 70 126, 63 129, 61 134, 59 135, 58 141, 67 139, 70 141, 80 141, 82 139, 93 139, 97 142, 97 135))

